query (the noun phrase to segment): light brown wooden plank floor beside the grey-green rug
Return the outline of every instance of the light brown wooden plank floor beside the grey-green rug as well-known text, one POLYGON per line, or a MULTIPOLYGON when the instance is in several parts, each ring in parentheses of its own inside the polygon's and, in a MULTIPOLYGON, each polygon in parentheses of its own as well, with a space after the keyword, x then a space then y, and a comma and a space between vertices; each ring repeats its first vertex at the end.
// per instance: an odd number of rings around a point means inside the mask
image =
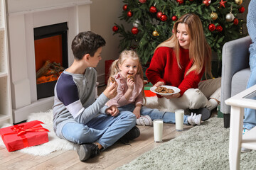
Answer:
MULTIPOLYGON (((141 131, 141 135, 130 142, 131 146, 117 142, 87 162, 80 162, 75 151, 53 152, 45 157, 40 157, 18 151, 8 152, 5 147, 0 147, 0 169, 116 169, 136 159, 144 152, 161 145, 161 143, 154 142, 153 127, 137 127, 141 131)), ((184 130, 191 127, 193 126, 183 126, 184 130)), ((175 130, 174 124, 164 123, 163 142, 168 142, 181 134, 182 132, 175 130)))

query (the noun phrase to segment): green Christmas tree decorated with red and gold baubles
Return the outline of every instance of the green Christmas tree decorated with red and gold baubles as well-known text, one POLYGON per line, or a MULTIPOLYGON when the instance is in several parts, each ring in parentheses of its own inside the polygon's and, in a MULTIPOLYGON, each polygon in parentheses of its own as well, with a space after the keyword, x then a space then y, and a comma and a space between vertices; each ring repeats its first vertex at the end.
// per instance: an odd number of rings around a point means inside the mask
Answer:
POLYGON ((197 14, 206 39, 221 60, 225 42, 245 36, 238 14, 245 8, 242 0, 124 0, 120 20, 132 23, 132 30, 114 23, 112 30, 122 38, 120 50, 134 49, 142 64, 150 62, 154 49, 172 35, 174 23, 185 13, 197 14))

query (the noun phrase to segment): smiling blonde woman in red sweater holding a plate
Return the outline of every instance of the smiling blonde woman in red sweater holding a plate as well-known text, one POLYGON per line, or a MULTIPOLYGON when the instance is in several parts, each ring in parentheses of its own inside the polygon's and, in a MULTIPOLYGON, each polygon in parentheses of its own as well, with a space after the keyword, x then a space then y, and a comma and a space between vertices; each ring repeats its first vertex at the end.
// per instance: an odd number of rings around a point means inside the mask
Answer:
POLYGON ((201 81, 211 74, 211 50, 200 18, 188 13, 174 24, 174 34, 156 47, 146 77, 154 86, 176 86, 180 93, 159 96, 159 104, 169 111, 190 109, 210 118, 210 111, 220 102, 221 79, 201 81), (209 99, 208 99, 209 98, 209 99))

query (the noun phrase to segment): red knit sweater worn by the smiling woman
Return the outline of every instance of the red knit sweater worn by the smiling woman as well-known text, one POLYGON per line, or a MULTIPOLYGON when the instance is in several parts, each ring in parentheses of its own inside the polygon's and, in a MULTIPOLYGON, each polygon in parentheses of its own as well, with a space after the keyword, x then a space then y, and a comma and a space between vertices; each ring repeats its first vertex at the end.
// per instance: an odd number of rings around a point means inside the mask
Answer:
POLYGON ((146 69, 146 77, 152 84, 164 81, 165 85, 178 87, 182 96, 187 89, 198 88, 204 67, 201 73, 193 71, 185 77, 193 62, 189 59, 189 50, 183 48, 180 50, 180 64, 181 68, 178 67, 174 48, 159 47, 154 52, 149 68, 146 69))

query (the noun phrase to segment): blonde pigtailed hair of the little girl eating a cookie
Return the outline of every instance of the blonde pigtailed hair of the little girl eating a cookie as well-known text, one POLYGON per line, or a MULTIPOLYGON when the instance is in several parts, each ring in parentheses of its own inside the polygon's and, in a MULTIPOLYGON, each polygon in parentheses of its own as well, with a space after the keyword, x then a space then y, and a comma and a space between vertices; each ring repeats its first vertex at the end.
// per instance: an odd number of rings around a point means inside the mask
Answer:
MULTIPOLYGON (((115 75, 117 75, 118 72, 120 72, 119 64, 122 65, 124 63, 124 61, 127 60, 128 58, 131 58, 132 60, 136 60, 138 62, 137 74, 139 74, 139 77, 143 81, 144 79, 143 79, 142 64, 140 64, 139 56, 137 55, 137 52, 134 52, 134 50, 122 51, 121 54, 119 55, 119 58, 117 60, 114 60, 114 62, 112 62, 111 67, 110 67, 110 77, 114 77, 115 75)), ((107 86, 110 86, 110 79, 108 79, 108 81, 107 81, 107 86)), ((146 101, 144 89, 142 89, 142 94, 143 94, 144 100, 146 101)))

